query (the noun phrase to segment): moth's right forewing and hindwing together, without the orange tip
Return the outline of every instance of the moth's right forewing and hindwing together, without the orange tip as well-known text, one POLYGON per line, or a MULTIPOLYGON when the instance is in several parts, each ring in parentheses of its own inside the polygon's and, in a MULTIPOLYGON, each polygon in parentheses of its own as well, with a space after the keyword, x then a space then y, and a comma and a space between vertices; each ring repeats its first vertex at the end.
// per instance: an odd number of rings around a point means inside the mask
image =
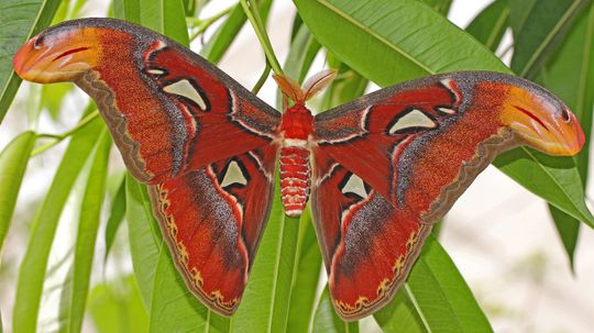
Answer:
POLYGON ((517 144, 498 116, 506 80, 435 76, 316 116, 311 204, 342 318, 389 301, 431 223, 496 153, 517 144))

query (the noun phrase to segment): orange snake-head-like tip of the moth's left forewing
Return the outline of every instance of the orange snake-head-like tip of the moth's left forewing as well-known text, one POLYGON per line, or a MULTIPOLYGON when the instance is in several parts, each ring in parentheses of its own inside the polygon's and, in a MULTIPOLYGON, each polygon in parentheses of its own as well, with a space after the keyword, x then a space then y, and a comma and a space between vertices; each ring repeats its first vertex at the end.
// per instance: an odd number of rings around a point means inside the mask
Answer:
POLYGON ((16 74, 29 81, 74 81, 100 57, 98 30, 57 25, 31 38, 13 58, 16 74))

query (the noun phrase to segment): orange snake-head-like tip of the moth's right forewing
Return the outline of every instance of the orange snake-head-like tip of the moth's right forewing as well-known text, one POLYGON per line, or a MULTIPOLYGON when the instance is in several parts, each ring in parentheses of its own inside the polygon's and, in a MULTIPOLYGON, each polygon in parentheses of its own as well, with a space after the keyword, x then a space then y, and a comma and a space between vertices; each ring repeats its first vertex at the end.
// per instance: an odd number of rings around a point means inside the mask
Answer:
POLYGON ((524 144, 549 155, 575 155, 584 145, 582 126, 568 107, 525 80, 508 87, 502 121, 524 144))

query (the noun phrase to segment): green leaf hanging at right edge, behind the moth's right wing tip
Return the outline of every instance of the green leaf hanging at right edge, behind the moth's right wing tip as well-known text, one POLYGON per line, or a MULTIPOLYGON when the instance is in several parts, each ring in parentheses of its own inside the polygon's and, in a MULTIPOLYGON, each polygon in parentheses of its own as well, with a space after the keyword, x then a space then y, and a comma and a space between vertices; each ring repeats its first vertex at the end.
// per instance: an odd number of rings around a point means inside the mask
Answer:
MULTIPOLYGON (((574 157, 582 185, 587 181, 592 110, 594 108, 594 4, 584 10, 574 26, 551 57, 541 75, 544 87, 559 96, 575 112, 586 136, 584 147, 574 157)), ((571 215, 549 206, 570 263, 573 256, 580 222, 571 215)))

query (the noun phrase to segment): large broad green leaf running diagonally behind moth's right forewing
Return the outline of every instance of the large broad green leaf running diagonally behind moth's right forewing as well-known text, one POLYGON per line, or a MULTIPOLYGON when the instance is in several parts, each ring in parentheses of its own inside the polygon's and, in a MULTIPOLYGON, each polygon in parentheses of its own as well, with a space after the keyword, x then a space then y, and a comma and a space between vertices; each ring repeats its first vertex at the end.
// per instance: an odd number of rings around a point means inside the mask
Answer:
MULTIPOLYGON (((383 86, 442 71, 510 73, 484 45, 416 1, 295 0, 295 3, 322 45, 351 68, 383 86), (366 52, 359 52, 353 44, 365 45, 366 52)), ((544 157, 521 147, 504 154, 495 165, 564 212, 594 225, 571 158, 544 157)))

